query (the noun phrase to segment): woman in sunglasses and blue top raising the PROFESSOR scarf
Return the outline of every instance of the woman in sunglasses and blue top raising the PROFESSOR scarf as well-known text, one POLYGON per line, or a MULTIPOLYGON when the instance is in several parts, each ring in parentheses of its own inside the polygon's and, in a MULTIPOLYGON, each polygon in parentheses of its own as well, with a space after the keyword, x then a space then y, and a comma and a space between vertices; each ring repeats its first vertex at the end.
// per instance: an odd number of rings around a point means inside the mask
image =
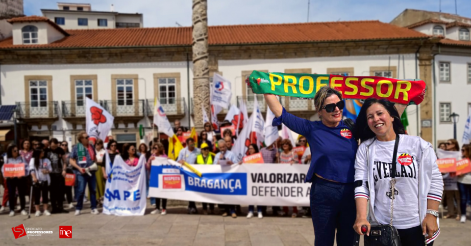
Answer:
MULTIPOLYGON (((312 157, 305 182, 312 182, 309 199, 314 243, 333 245, 336 236, 337 245, 350 245, 355 237, 352 225, 356 218, 354 165, 358 143, 354 138, 345 138, 340 134, 342 129, 349 128, 342 121, 342 94, 328 86, 321 87, 316 92, 314 106, 319 121, 289 114, 275 95, 264 94, 264 97, 271 112, 276 116, 272 125, 279 126, 283 123, 290 130, 305 136, 309 143, 312 157)), ((402 115, 406 105, 395 106, 400 111, 399 115, 402 115)))

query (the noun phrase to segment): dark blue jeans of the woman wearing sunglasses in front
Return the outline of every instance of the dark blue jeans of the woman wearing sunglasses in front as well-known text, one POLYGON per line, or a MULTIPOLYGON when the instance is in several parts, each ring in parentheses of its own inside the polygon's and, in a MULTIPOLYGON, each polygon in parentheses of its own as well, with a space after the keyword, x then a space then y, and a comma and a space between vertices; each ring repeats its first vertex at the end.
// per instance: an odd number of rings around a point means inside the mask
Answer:
POLYGON ((357 237, 353 230, 356 219, 355 187, 353 183, 335 183, 315 177, 310 192, 314 245, 354 245, 357 237))

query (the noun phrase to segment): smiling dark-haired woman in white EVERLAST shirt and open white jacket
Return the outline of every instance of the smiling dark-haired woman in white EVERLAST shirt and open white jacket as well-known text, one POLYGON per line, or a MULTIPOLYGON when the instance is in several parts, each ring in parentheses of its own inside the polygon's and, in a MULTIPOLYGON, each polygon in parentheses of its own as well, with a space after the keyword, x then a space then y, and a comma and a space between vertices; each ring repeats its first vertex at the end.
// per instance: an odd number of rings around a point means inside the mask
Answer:
POLYGON ((355 188, 355 231, 361 235, 361 226, 366 225, 369 235, 369 221, 373 225, 392 223, 402 245, 432 245, 440 233, 438 205, 443 193, 432 145, 418 136, 404 134, 394 104, 385 99, 367 99, 356 125, 355 136, 361 145, 355 161, 355 180, 359 184, 355 188), (393 159, 396 141, 399 147, 393 159))

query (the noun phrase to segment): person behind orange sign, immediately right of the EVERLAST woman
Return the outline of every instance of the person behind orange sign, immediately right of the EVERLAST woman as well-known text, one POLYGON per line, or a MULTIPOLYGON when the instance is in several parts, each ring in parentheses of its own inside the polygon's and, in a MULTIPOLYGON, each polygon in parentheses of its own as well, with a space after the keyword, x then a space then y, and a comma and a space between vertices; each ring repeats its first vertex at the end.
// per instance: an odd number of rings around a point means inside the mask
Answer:
MULTIPOLYGON (((455 139, 450 139, 445 142, 447 146, 447 151, 459 151, 460 146, 458 141, 455 139)), ((443 179, 446 179, 447 183, 453 183, 453 187, 446 188, 445 187, 445 198, 447 199, 447 208, 448 214, 444 215, 443 218, 455 218, 457 221, 461 218, 461 209, 460 209, 460 193, 458 190, 458 177, 456 177, 455 173, 447 173, 443 175, 443 179), (455 185, 456 184, 456 185, 455 185), (456 202, 456 205, 455 205, 456 202)), ((448 187, 448 186, 447 186, 448 187)))

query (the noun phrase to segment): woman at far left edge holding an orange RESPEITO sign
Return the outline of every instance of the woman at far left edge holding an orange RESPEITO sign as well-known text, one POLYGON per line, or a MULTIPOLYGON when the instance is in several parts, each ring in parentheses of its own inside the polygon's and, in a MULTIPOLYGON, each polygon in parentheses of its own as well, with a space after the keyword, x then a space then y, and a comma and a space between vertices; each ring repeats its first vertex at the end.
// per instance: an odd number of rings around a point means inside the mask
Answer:
MULTIPOLYGON (((2 175, 5 177, 5 164, 21 164, 24 165, 24 175, 21 177, 5 178, 5 182, 8 187, 8 201, 10 201, 10 216, 15 215, 15 201, 16 192, 18 191, 21 215, 28 215, 28 212, 24 209, 26 206, 26 193, 27 193, 27 176, 29 173, 28 163, 18 153, 18 147, 15 144, 11 144, 7 148, 7 156, 4 166, 2 166, 2 175)), ((5 189, 6 190, 6 189, 5 189)), ((7 193, 7 192, 5 192, 7 193)))

